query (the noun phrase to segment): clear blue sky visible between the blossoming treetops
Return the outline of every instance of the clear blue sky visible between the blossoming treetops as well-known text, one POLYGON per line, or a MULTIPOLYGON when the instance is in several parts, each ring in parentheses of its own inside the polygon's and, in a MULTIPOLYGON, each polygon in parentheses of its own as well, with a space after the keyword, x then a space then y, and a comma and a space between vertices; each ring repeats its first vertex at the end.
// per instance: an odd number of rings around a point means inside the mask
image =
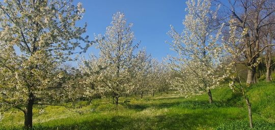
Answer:
MULTIPOLYGON (((87 33, 90 40, 94 34, 104 34, 110 25, 112 16, 120 11, 125 14, 127 22, 133 23, 135 39, 141 41, 140 48, 146 47, 152 57, 161 61, 162 57, 173 54, 165 41, 172 41, 167 32, 172 24, 178 31, 182 31, 182 21, 185 16, 185 0, 75 0, 82 3, 86 13, 81 23, 88 23, 87 33)), ((88 53, 98 53, 90 48, 88 53)))

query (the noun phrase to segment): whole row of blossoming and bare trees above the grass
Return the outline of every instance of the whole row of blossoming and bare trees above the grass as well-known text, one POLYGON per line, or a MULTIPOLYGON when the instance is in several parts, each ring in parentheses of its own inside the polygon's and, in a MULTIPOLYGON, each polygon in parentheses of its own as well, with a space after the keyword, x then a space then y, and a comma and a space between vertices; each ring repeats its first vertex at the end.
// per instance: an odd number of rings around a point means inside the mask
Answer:
MULTIPOLYGON (((184 96, 208 93, 229 83, 243 95, 253 127, 246 87, 274 70, 275 4, 271 0, 190 0, 184 29, 171 25, 168 35, 176 56, 163 61, 134 43, 132 23, 123 13, 113 16, 104 35, 82 37, 78 27, 85 9, 73 1, 0 3, 0 108, 24 113, 25 128, 33 125, 34 105, 113 98, 176 89, 184 96), (78 58, 91 46, 99 54, 78 58), (77 61, 78 67, 66 66, 77 61), (243 81, 245 83, 243 83, 243 81)), ((68 106, 65 106, 68 107, 68 106)))

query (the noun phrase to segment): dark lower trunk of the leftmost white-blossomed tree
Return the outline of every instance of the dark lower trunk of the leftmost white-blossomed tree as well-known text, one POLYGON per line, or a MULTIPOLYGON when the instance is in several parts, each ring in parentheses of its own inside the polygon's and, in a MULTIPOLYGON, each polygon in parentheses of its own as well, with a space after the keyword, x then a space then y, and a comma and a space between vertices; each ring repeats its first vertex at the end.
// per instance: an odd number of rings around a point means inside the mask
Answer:
POLYGON ((24 127, 25 129, 30 129, 33 127, 33 105, 34 105, 34 95, 31 93, 29 95, 28 104, 26 105, 26 109, 24 111, 24 127))

